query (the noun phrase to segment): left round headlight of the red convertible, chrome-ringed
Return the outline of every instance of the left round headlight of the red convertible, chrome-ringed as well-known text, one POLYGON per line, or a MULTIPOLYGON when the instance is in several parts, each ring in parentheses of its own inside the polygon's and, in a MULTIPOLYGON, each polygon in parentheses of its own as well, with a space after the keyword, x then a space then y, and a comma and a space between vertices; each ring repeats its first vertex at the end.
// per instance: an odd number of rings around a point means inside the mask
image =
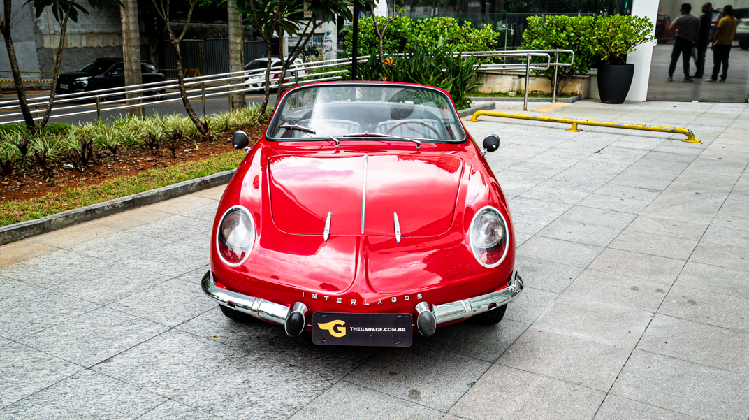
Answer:
POLYGON ((255 224, 249 211, 242 206, 226 210, 216 232, 216 249, 221 261, 230 267, 239 266, 249 257, 254 243, 255 224))

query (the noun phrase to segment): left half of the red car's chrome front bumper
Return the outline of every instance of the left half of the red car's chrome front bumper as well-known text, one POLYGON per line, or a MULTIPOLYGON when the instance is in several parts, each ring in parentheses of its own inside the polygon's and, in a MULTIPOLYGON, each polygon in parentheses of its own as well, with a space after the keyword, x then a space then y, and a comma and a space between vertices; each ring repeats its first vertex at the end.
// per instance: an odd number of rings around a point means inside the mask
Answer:
POLYGON ((201 288, 203 289, 203 293, 218 302, 219 305, 234 308, 237 311, 251 315, 260 320, 267 320, 272 323, 285 325, 286 318, 291 313, 291 309, 288 306, 279 305, 278 303, 273 303, 259 297, 243 295, 242 293, 233 292, 216 286, 216 281, 213 279, 213 273, 210 273, 210 270, 203 276, 203 279, 201 280, 201 288))

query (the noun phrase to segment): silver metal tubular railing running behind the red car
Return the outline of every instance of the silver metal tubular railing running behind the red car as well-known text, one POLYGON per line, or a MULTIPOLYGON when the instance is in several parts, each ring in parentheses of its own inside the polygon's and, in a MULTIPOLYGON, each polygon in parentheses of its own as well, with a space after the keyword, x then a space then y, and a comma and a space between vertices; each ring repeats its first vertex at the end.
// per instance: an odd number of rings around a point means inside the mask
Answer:
MULTIPOLYGON (((476 58, 520 58, 521 62, 515 63, 491 63, 476 64, 478 70, 525 70, 525 99, 524 109, 528 106, 528 85, 531 70, 548 70, 554 67, 554 95, 552 102, 556 102, 557 96, 557 70, 559 67, 569 67, 574 61, 574 52, 569 49, 539 49, 539 50, 522 50, 522 51, 470 51, 460 52, 464 57, 473 55, 476 58), (560 53, 571 55, 569 62, 560 63, 560 53), (554 55, 554 61, 551 59, 554 55), (533 63, 534 58, 541 58, 542 62, 533 63)), ((402 54, 401 54, 402 55, 402 54)), ((360 56, 357 63, 366 63, 369 55, 360 56)), ((506 60, 505 60, 506 61, 506 60)), ((271 88, 276 88, 279 79, 282 79, 283 86, 302 85, 305 83, 324 82, 329 80, 345 79, 348 75, 348 66, 351 65, 350 58, 337 58, 334 60, 315 61, 313 63, 292 64, 285 76, 280 76, 280 69, 270 71, 271 88), (313 73, 314 72, 314 73, 313 73)), ((187 98, 195 100, 200 98, 202 101, 203 115, 206 114, 205 100, 207 97, 224 96, 226 94, 255 91, 263 88, 266 70, 241 70, 237 72, 219 73, 210 76, 195 76, 184 79, 187 87, 187 98), (226 89, 229 91, 225 91, 226 89)), ((71 94, 55 95, 55 112, 62 114, 50 115, 49 118, 63 118, 79 115, 88 115, 96 113, 97 119, 101 119, 102 112, 118 111, 121 109, 130 109, 143 106, 143 100, 151 97, 154 100, 149 101, 149 105, 158 105, 160 103, 181 102, 181 93, 177 91, 167 92, 168 89, 178 88, 178 82, 167 80, 164 82, 142 83, 140 85, 129 85, 118 88, 106 88, 96 91, 82 91, 71 94), (137 97, 128 98, 127 95, 137 95, 137 97), (123 97, 112 100, 112 97, 123 97), (173 96, 173 97, 172 97, 173 96), (165 99, 168 98, 168 99, 165 99), (82 101, 94 102, 95 109, 88 109, 89 104, 81 104, 82 101), (108 106, 103 107, 102 103, 106 102, 108 106), (62 105, 62 106, 59 106, 62 105)), ((42 109, 46 109, 49 103, 49 96, 31 98, 27 101, 32 114, 37 114, 34 121, 41 120, 42 109)), ((0 101, 0 111, 7 110, 10 112, 1 115, 7 117, 22 117, 17 100, 0 101)), ((23 119, 13 121, 4 121, 0 124, 17 124, 23 123, 23 119)))

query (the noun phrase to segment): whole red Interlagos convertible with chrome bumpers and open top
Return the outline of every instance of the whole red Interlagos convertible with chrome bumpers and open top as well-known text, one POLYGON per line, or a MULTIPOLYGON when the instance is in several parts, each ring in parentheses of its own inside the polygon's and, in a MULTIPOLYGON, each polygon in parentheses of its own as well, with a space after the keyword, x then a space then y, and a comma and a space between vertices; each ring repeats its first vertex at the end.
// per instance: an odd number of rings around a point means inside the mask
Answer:
POLYGON ((446 91, 328 82, 283 94, 216 213, 207 296, 316 344, 407 347, 498 323, 523 289, 502 189, 446 91))

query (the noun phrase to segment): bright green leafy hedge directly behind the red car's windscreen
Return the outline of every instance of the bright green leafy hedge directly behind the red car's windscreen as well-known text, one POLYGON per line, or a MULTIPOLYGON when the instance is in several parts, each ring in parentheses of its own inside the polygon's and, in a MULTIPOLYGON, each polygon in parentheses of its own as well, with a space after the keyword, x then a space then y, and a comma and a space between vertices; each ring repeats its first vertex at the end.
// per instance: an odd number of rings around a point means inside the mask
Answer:
MULTIPOLYGON (((386 18, 377 16, 380 28, 386 18)), ((351 54, 351 31, 345 37, 346 51, 351 54)), ((443 42, 455 46, 456 51, 481 51, 497 49, 500 32, 491 26, 483 29, 473 28, 470 22, 463 25, 452 17, 433 17, 431 19, 413 20, 407 16, 390 22, 383 38, 383 50, 386 54, 395 54, 411 49, 416 43, 423 46, 434 45, 442 37, 443 42)), ((377 52, 379 40, 375 23, 371 17, 359 21, 359 54, 368 55, 377 52)))

